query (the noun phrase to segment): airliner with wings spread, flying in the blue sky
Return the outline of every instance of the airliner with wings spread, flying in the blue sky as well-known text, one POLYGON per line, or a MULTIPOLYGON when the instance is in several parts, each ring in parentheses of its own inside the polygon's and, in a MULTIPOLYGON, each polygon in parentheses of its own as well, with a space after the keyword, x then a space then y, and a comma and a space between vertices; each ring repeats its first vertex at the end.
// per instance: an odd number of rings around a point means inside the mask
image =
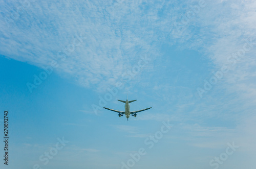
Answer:
POLYGON ((138 110, 138 111, 131 111, 131 112, 130 112, 130 105, 129 105, 129 103, 135 102, 135 101, 137 101, 137 100, 128 101, 128 100, 126 99, 126 102, 125 102, 125 101, 121 101, 121 100, 118 100, 118 101, 125 103, 125 106, 124 106, 125 111, 124 111, 124 112, 123 112, 123 111, 118 111, 118 110, 109 109, 109 108, 106 108, 106 107, 103 107, 103 108, 105 108, 105 109, 107 109, 107 110, 111 110, 111 111, 115 111, 115 112, 119 113, 119 114, 118 114, 119 117, 121 117, 121 116, 123 116, 123 114, 125 114, 127 120, 128 120, 128 118, 130 117, 130 115, 136 117, 138 112, 141 112, 141 111, 148 110, 148 109, 151 109, 151 108, 152 108, 152 107, 150 107, 150 108, 146 108, 146 109, 142 109, 142 110, 138 110))

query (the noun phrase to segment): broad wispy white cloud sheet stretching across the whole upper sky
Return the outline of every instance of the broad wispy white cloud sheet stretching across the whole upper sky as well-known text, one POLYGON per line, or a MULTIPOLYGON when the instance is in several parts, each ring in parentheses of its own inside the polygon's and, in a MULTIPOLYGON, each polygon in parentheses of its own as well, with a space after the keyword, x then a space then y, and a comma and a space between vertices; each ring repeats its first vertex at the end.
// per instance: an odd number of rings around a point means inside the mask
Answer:
MULTIPOLYGON (((39 67, 57 60, 60 66, 55 71, 61 76, 85 87, 96 85, 99 91, 104 91, 120 80, 139 55, 150 53, 156 58, 161 41, 184 42, 184 47, 204 49, 216 66, 221 67, 228 55, 242 47, 243 39, 255 35, 254 1, 206 1, 206 6, 183 25, 185 30, 181 33, 174 22, 181 22, 190 6, 198 1, 146 4, 144 1, 34 2, 9 23, 9 28, 1 20, 0 51, 39 67), (80 33, 83 42, 61 61, 58 52, 71 47, 80 33)), ((3 2, 4 18, 10 18, 11 11, 19 5, 3 2)), ((250 63, 255 63, 254 58, 250 59, 253 61, 250 63)))

